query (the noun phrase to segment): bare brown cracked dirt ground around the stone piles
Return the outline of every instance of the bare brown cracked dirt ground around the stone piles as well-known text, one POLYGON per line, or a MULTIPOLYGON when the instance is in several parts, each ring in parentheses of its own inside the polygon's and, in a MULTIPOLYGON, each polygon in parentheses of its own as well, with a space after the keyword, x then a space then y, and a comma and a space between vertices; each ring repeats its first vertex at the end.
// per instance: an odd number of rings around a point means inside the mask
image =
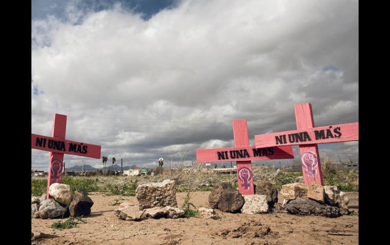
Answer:
MULTIPOLYGON (((209 191, 191 192, 197 207, 210 208, 209 191)), ((346 192, 350 211, 359 210, 359 192, 346 192)), ((177 193, 181 207, 186 193, 177 193)), ((57 230, 51 224, 58 219, 31 219, 31 244, 358 244, 359 216, 338 218, 296 216, 287 213, 230 214, 216 210, 220 219, 180 218, 120 220, 113 210, 119 202, 138 204, 135 197, 91 192, 93 200, 87 223, 57 230), (44 233, 41 236, 40 233, 44 233)), ((283 201, 279 198, 279 202, 283 201)))

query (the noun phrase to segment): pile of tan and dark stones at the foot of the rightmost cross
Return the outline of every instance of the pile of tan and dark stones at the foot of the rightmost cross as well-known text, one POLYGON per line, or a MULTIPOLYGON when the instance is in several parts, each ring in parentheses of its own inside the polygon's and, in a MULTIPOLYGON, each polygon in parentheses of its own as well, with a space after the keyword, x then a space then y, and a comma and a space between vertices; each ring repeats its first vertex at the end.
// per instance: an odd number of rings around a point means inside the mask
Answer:
POLYGON ((292 183, 282 186, 283 208, 291 214, 338 217, 348 214, 349 198, 337 186, 309 186, 292 183))

